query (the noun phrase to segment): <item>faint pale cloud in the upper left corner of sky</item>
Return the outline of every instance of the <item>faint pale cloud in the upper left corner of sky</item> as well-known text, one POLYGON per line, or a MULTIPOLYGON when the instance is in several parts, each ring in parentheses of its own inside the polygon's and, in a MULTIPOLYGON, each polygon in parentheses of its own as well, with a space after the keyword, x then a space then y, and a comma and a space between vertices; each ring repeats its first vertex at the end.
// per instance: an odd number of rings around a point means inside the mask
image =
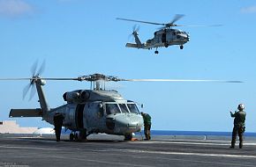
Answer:
POLYGON ((33 12, 33 6, 24 0, 0 0, 0 16, 18 18, 33 12))

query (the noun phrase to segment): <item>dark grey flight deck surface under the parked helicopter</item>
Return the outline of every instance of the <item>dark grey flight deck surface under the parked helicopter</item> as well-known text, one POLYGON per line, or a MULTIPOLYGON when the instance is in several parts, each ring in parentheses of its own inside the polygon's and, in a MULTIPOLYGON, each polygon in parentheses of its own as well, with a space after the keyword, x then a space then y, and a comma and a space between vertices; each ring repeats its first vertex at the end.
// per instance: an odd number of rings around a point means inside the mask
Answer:
MULTIPOLYGON (((138 139, 141 136, 137 136, 138 139)), ((54 136, 0 134, 0 166, 255 166, 256 140, 230 149, 230 137, 152 136, 124 142, 123 137, 92 135, 87 142, 61 142, 54 136)))

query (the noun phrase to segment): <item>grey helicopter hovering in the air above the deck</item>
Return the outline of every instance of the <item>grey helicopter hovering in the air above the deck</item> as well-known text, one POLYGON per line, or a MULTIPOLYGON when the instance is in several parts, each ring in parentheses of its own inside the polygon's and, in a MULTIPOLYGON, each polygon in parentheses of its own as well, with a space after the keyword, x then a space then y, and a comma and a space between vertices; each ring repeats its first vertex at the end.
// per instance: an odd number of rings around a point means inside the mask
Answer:
MULTIPOLYGON (((117 18, 119 20, 124 21, 132 21, 144 24, 151 24, 151 25, 162 25, 156 32, 154 32, 154 38, 151 40, 147 40, 146 42, 142 43, 139 40, 139 27, 136 28, 133 26, 132 35, 135 39, 135 43, 126 43, 125 47, 133 47, 133 48, 143 48, 143 49, 152 49, 156 48, 154 54, 158 54, 158 47, 169 47, 173 45, 178 45, 180 49, 184 48, 184 44, 190 40, 190 35, 183 30, 174 29, 175 26, 205 26, 205 25, 176 25, 175 22, 180 18, 183 18, 184 15, 177 14, 169 23, 154 23, 148 21, 140 21, 135 19, 128 19, 128 18, 117 18)), ((220 25, 210 25, 210 26, 220 26, 220 25)))

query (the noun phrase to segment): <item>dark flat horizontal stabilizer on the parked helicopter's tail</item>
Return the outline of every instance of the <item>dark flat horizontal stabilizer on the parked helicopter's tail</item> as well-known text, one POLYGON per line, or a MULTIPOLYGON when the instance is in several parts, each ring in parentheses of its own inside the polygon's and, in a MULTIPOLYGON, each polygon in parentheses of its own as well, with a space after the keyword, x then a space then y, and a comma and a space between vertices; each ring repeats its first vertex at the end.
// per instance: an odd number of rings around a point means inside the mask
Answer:
POLYGON ((41 117, 41 109, 11 109, 9 117, 41 117))

